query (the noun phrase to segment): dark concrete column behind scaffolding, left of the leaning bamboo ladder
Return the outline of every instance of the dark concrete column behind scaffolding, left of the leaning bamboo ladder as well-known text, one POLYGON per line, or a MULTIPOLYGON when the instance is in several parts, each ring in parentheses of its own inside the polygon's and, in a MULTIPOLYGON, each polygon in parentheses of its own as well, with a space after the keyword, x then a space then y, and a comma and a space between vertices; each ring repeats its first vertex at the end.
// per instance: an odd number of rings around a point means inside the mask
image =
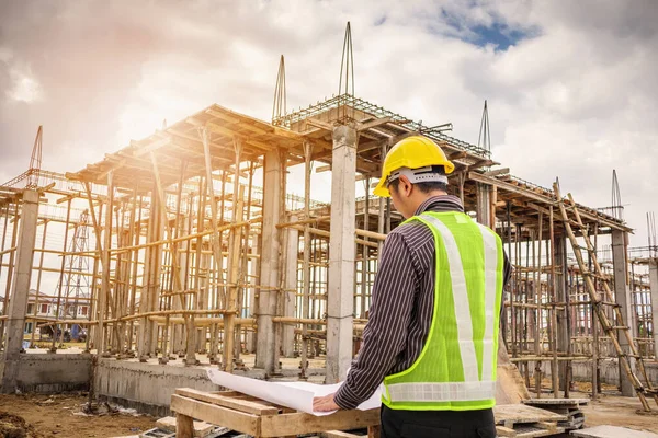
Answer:
MULTIPOLYGON (((555 237, 555 293, 558 302, 567 301, 567 249, 564 235, 555 237)), ((566 307, 568 308, 568 306, 566 307)), ((557 349, 559 351, 567 351, 569 349, 570 336, 569 336, 569 323, 567 321, 568 309, 556 310, 556 322, 557 322, 557 349)), ((558 362, 558 379, 559 389, 565 391, 567 388, 567 362, 560 360, 558 362)))

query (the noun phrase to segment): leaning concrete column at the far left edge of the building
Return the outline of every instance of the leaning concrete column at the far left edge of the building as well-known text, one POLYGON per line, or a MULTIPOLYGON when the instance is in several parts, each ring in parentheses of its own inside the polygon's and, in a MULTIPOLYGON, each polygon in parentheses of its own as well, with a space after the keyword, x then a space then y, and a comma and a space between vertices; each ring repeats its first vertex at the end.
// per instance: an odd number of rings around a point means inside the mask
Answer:
POLYGON ((16 264, 11 287, 7 321, 7 344, 4 347, 4 369, 2 370, 2 392, 13 393, 16 389, 16 377, 20 366, 20 354, 23 348, 23 328, 27 311, 27 295, 32 277, 32 261, 36 240, 36 221, 38 218, 38 192, 23 192, 21 211, 21 229, 16 250, 16 264))

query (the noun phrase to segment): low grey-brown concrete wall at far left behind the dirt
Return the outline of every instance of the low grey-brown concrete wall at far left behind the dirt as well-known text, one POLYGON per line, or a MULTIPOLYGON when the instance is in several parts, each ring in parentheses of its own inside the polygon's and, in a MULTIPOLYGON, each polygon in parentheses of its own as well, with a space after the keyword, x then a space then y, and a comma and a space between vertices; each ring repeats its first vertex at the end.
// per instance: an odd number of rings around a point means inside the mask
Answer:
POLYGON ((90 355, 21 354, 19 364, 16 389, 21 392, 53 393, 89 389, 90 355))

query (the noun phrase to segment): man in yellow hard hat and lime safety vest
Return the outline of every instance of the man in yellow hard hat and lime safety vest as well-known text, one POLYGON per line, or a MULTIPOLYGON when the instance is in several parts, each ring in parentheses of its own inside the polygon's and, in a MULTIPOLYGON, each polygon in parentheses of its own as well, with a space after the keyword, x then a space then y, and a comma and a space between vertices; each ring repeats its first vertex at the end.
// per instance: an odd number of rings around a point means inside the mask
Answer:
POLYGON ((354 408, 383 383, 385 438, 496 436, 498 323, 508 264, 500 238, 447 195, 454 164, 413 136, 384 161, 375 195, 407 219, 386 238, 363 346, 315 411, 354 408))

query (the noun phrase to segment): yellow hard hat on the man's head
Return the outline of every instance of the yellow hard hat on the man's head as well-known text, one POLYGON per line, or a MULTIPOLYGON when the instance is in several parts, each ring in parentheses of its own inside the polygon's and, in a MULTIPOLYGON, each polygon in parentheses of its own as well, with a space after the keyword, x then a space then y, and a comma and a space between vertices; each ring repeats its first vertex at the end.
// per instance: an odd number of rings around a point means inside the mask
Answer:
POLYGON ((422 136, 407 137, 395 143, 386 154, 382 166, 382 178, 375 187, 374 194, 383 198, 390 197, 388 177, 399 169, 420 169, 432 165, 442 165, 446 175, 455 170, 455 165, 434 141, 422 136))

